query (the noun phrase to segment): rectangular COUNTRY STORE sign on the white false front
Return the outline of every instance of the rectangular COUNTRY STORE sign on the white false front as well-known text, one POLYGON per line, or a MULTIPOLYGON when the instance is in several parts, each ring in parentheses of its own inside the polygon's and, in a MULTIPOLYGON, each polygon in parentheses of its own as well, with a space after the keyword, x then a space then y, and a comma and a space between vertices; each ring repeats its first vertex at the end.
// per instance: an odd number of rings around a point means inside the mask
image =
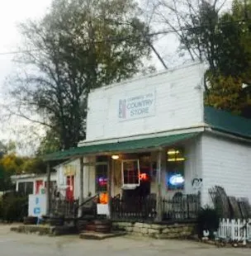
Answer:
POLYGON ((119 120, 126 121, 155 115, 155 92, 119 100, 119 120))

